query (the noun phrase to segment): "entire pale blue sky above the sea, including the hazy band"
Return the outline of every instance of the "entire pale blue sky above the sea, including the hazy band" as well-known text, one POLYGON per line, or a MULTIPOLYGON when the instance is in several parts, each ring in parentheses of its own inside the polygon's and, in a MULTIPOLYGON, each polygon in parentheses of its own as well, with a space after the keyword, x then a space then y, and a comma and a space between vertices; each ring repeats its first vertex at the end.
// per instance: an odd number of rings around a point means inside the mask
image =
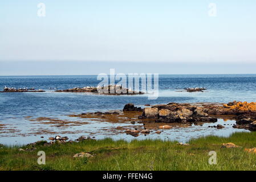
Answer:
POLYGON ((256 73, 255 20, 255 0, 3 0, 0 75, 256 73))

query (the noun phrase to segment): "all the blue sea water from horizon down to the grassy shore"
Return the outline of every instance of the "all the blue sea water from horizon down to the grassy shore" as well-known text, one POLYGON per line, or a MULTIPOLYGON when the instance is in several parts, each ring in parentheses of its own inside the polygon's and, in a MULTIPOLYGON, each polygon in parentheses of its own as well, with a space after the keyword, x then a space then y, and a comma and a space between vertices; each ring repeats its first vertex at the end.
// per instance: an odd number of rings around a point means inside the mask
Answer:
MULTIPOLYGON (((121 110, 127 103, 136 106, 145 104, 166 104, 168 102, 230 102, 255 101, 256 75, 160 75, 160 95, 157 100, 148 100, 146 95, 139 96, 99 96, 88 93, 56 93, 48 88, 68 89, 76 86, 96 86, 96 76, 0 76, 0 88, 34 87, 47 90, 44 93, 0 93, 0 143, 23 144, 55 136, 56 134, 76 139, 81 135, 95 138, 112 137, 114 139, 133 139, 124 133, 116 133, 116 126, 133 127, 131 123, 109 123, 68 117, 69 114, 88 113, 91 111, 121 110), (177 92, 186 87, 206 87, 205 92, 177 92), (30 118, 27 118, 30 117, 30 118), (58 118, 64 121, 84 122, 83 125, 57 127, 31 121, 38 117, 58 118), (87 123, 86 123, 87 122, 87 123), (40 131, 47 130, 45 134, 40 131), (50 133, 50 131, 52 133, 50 133)), ((218 119, 218 122, 235 123, 218 119)), ((140 126, 141 124, 136 124, 140 126)), ((212 123, 203 126, 174 127, 158 135, 151 133, 140 135, 137 139, 161 138, 186 142, 191 138, 206 135, 229 136, 235 131, 231 125, 217 130, 209 128, 212 123)), ((217 125, 217 123, 214 123, 217 125)))

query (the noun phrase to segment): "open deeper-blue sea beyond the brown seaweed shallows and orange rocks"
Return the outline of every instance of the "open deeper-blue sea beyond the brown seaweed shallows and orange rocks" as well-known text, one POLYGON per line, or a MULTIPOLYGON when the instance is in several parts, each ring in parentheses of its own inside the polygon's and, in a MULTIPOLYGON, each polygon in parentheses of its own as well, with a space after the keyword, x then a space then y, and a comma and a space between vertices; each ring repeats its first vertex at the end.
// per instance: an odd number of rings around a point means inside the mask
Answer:
MULTIPOLYGON (((127 103, 138 106, 166 104, 168 102, 230 102, 256 100, 256 75, 160 75, 159 98, 148 100, 147 95, 99 96, 86 93, 56 93, 49 88, 68 89, 97 86, 96 76, 0 76, 0 89, 43 89, 44 93, 0 93, 0 143, 26 143, 36 136, 35 125, 26 117, 63 118, 71 113, 120 110, 127 103), (186 87, 205 87, 205 92, 177 92, 186 87), (11 129, 15 127, 13 133, 11 129), (2 130, 2 132, 1 132, 2 130), (31 135, 28 133, 31 132, 31 135), (23 139, 22 134, 25 134, 23 139), (11 139, 10 137, 15 139, 11 139), (17 138, 18 137, 18 138, 17 138), (24 139, 26 138, 26 139, 24 139), (18 140, 18 141, 17 141, 18 140)), ((97 125, 100 124, 98 123, 97 125)), ((58 129, 52 128, 58 131, 58 129)), ((84 129, 86 130, 86 129, 84 129)), ((78 133, 79 135, 81 133, 78 133)), ((103 136, 101 136, 103 137, 103 136)))

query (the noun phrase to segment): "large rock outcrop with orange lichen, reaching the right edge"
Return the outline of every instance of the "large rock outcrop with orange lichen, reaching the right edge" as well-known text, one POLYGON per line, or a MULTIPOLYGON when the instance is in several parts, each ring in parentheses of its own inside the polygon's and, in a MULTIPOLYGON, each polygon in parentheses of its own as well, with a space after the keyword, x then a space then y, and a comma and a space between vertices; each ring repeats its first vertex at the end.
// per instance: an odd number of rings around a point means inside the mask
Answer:
MULTIPOLYGON (((229 102, 227 104, 178 104, 155 105, 141 109, 133 104, 123 111, 143 111, 139 119, 151 118, 151 122, 197 123, 217 122, 217 117, 229 115, 236 121, 234 128, 256 131, 256 102, 229 102)), ((147 120, 148 122, 148 120, 147 120)), ((222 128, 224 126, 217 126, 222 128)))

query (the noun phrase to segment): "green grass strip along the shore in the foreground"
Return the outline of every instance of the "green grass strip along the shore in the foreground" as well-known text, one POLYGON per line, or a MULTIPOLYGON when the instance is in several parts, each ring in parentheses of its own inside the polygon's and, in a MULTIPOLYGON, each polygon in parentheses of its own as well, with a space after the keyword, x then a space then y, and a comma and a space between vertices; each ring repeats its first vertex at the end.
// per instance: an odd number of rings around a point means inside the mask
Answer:
MULTIPOLYGON (((43 143, 43 142, 42 142, 43 143)), ((0 148, 0 170, 255 170, 256 154, 245 148, 256 147, 256 133, 235 133, 229 138, 205 137, 189 145, 162 140, 113 141, 84 140, 79 143, 38 144, 34 151, 25 146, 0 148), (221 148, 232 142, 239 148, 221 148), (46 164, 37 163, 38 151, 46 153, 46 164), (217 164, 210 165, 209 151, 217 152, 217 164), (73 158, 90 152, 91 158, 73 158)))

